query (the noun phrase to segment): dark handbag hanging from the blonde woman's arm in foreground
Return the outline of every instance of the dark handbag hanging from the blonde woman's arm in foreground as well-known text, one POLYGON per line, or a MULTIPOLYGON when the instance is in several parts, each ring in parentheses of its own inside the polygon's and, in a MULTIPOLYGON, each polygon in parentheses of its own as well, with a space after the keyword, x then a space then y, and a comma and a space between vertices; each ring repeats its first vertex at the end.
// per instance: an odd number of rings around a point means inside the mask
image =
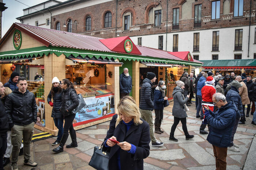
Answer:
POLYGON ((89 165, 97 170, 109 170, 109 152, 102 151, 102 145, 95 146, 89 165))

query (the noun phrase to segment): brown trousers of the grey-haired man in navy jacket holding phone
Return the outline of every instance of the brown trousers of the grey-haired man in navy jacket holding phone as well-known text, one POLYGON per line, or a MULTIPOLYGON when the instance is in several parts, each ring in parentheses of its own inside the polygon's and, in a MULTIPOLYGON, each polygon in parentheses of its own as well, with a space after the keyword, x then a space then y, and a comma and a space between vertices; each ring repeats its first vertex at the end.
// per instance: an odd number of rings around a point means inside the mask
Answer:
POLYGON ((227 167, 227 147, 213 147, 213 153, 215 156, 215 162, 216 162, 216 170, 226 170, 227 167))

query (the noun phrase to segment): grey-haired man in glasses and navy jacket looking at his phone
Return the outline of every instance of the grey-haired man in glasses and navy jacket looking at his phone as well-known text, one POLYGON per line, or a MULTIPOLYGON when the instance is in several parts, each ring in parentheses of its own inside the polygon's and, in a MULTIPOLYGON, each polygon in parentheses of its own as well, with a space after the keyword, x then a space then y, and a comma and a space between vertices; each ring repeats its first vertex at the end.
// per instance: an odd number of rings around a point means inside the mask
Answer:
POLYGON ((221 93, 215 93, 212 101, 219 110, 214 113, 208 107, 204 109, 204 115, 210 124, 207 141, 213 147, 216 169, 222 170, 227 167, 227 147, 230 145, 237 108, 233 101, 227 102, 226 97, 221 93))

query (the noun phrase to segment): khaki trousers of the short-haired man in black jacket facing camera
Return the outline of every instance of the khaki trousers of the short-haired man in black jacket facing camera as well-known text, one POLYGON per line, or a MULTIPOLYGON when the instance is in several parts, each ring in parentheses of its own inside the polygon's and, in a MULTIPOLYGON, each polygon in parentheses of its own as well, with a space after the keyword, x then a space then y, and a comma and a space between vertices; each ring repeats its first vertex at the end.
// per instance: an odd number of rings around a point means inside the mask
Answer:
POLYGON ((16 163, 18 161, 19 156, 19 149, 20 145, 22 143, 23 138, 23 155, 24 160, 30 159, 30 143, 33 137, 34 132, 34 122, 25 125, 25 126, 19 126, 14 125, 12 127, 12 134, 11 134, 11 141, 12 141, 12 163, 16 163))

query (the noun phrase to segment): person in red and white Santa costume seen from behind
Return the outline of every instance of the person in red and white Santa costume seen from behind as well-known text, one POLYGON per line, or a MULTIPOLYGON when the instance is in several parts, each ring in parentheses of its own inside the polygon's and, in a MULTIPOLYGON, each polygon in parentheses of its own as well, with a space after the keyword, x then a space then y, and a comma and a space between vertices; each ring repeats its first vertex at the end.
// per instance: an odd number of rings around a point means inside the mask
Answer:
MULTIPOLYGON (((205 86, 202 88, 201 92, 202 92, 202 105, 204 105, 205 107, 209 107, 211 111, 213 111, 214 109, 214 104, 212 102, 212 95, 214 95, 216 93, 216 90, 214 88, 214 78, 212 76, 208 76, 206 78, 206 84, 205 86)), ((204 110, 203 110, 204 113, 204 110)), ((205 131, 204 129, 206 128, 206 124, 207 124, 207 120, 204 116, 203 122, 200 126, 200 134, 208 134, 207 131, 205 131)), ((208 125, 209 127, 209 125, 208 125)), ((208 128, 209 129, 209 128, 208 128)))

